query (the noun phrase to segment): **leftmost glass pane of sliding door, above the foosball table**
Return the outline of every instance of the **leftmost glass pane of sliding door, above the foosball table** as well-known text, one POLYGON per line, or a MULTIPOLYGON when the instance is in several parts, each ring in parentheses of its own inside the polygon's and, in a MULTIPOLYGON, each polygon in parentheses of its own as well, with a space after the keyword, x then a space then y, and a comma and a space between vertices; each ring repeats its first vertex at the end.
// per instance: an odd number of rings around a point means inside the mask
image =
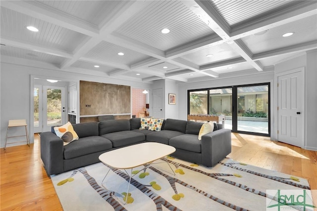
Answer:
POLYGON ((189 113, 207 114, 208 113, 207 91, 190 92, 189 94, 189 113))

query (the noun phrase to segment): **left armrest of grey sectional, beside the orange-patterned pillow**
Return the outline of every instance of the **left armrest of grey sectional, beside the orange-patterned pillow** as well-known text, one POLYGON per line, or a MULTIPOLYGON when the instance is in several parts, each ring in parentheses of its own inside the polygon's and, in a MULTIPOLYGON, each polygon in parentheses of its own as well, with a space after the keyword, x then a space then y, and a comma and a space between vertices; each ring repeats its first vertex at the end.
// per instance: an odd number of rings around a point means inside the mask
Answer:
POLYGON ((41 133, 41 159, 49 175, 64 171, 63 140, 52 132, 41 133))

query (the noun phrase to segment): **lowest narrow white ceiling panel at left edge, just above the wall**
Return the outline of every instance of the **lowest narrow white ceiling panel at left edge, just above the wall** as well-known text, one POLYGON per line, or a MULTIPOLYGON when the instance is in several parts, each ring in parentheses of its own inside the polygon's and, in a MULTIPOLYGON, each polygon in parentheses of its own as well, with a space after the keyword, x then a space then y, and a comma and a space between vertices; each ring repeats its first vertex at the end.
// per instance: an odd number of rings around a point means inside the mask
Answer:
POLYGON ((65 60, 63 57, 50 55, 46 53, 39 53, 34 51, 29 51, 25 49, 19 49, 10 46, 0 46, 1 55, 13 56, 18 58, 26 58, 30 60, 37 60, 46 63, 51 63, 58 65, 65 60))

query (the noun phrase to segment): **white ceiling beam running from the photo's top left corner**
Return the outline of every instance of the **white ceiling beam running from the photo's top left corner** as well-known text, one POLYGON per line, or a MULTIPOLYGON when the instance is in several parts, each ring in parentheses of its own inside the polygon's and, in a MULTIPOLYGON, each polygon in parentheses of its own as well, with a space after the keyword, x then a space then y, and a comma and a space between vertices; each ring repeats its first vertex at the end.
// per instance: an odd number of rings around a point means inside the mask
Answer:
POLYGON ((99 34, 99 28, 96 25, 38 1, 4 0, 1 1, 1 6, 88 36, 99 34))

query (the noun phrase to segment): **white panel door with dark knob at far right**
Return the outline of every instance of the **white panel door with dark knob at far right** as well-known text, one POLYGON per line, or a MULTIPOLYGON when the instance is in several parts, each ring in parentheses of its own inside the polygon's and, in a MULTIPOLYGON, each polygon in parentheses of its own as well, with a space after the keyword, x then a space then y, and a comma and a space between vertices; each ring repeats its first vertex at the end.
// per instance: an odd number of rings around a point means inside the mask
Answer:
POLYGON ((304 147, 303 71, 278 76, 278 141, 304 147))

